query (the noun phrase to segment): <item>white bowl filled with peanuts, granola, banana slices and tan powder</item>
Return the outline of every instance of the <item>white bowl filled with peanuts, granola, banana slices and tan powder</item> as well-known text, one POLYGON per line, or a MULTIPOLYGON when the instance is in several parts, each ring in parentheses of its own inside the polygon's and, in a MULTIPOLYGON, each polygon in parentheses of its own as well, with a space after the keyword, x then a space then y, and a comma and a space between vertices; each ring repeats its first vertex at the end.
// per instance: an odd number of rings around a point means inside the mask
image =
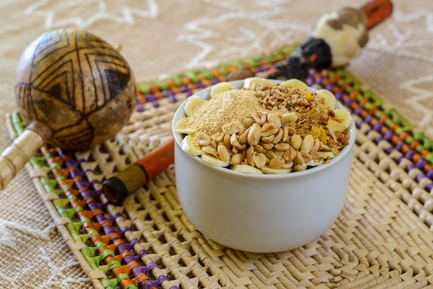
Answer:
POLYGON ((356 128, 329 91, 299 80, 223 82, 183 102, 172 129, 183 211, 221 245, 248 252, 291 250, 317 239, 342 210, 356 128), (279 99, 270 89, 296 97, 279 99), (251 95, 260 95, 259 106, 251 95), (293 104, 304 108, 293 110, 293 104), (313 120, 302 119, 312 114, 313 120), (305 122, 313 124, 302 127, 305 122), (222 131, 214 130, 218 127, 222 131))

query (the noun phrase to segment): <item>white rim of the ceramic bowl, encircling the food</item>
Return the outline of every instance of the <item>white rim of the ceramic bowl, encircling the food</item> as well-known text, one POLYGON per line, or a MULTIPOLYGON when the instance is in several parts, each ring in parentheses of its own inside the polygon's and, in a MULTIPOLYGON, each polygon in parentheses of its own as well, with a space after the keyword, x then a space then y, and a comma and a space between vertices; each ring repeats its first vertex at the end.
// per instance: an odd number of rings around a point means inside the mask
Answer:
MULTIPOLYGON (((268 80, 270 80, 270 79, 268 79, 268 80)), ((282 80, 270 80, 270 82, 282 83, 283 81, 282 80)), ((241 88, 243 86, 244 80, 234 80, 234 81, 231 81, 228 83, 232 84, 232 86, 234 86, 235 88, 241 88)), ((202 100, 209 100, 210 91, 211 91, 213 86, 214 85, 208 86, 207 88, 203 88, 201 91, 198 91, 198 92, 194 93, 193 95, 198 95, 202 100)), ((308 86, 308 89, 310 91, 317 91, 317 89, 309 87, 309 86, 308 86)), ((229 174, 230 176, 240 176, 243 178, 266 179, 266 180, 281 179, 281 178, 284 178, 284 179, 286 179, 286 178, 299 178, 301 176, 311 175, 311 174, 318 173, 319 171, 322 171, 323 169, 327 169, 330 166, 338 165, 340 160, 343 160, 347 155, 351 155, 353 145, 355 144, 355 140, 356 140, 356 126, 355 126, 355 122, 353 121, 353 118, 352 118, 351 123, 349 124, 349 128, 348 128, 349 144, 344 146, 342 151, 340 151, 340 153, 337 156, 335 156, 331 160, 331 162, 324 163, 322 165, 318 165, 317 167, 311 167, 311 168, 305 169, 304 171, 291 171, 291 172, 286 173, 286 174, 246 174, 246 173, 243 173, 241 171, 234 171, 233 169, 229 169, 227 167, 216 167, 216 166, 210 165, 207 162, 204 162, 203 160, 201 160, 200 156, 192 156, 190 153, 183 151, 181 142, 184 138, 184 136, 183 136, 184 134, 176 132, 174 127, 176 125, 176 122, 178 122, 178 120, 181 120, 181 118, 185 115, 183 108, 185 106, 186 101, 187 101, 187 99, 184 100, 180 106, 178 106, 178 108, 176 109, 176 111, 174 113, 174 117, 172 120, 172 133, 174 135, 174 140, 175 140, 174 142, 175 142, 176 146, 178 146, 178 148, 181 150, 181 153, 184 153, 188 157, 192 158, 193 160, 200 162, 200 164, 205 165, 205 167, 208 167, 210 169, 214 169, 215 171, 218 171, 220 174, 229 174)), ((335 102, 335 108, 344 109, 345 111, 348 111, 346 109, 346 107, 344 107, 338 100, 335 102)), ((176 164, 176 162, 175 162, 175 164, 176 164)))

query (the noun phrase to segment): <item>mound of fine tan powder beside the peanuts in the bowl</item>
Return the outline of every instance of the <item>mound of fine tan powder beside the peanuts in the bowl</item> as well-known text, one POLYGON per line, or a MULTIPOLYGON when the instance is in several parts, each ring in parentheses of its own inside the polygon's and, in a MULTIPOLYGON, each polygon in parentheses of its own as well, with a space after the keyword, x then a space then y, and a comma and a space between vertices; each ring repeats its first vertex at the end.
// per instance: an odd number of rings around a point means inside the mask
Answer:
POLYGON ((259 109, 259 100, 254 91, 224 91, 194 107, 191 115, 184 118, 185 126, 209 136, 219 131, 238 133, 246 129, 242 119, 259 109))

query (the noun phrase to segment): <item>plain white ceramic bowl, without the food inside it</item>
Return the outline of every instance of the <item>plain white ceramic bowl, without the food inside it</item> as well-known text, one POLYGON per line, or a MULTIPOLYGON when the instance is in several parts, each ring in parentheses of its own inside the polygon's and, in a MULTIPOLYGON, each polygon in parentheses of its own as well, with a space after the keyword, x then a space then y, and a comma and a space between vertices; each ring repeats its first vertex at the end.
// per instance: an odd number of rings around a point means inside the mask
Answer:
MULTIPOLYGON (((241 88, 243 80, 230 82, 241 88)), ((210 88, 197 93, 208 100, 210 88)), ((181 148, 183 135, 173 119, 178 198, 191 223, 229 248, 279 252, 305 245, 323 234, 340 214, 347 193, 355 124, 349 145, 329 163, 288 174, 245 174, 214 167, 181 148)), ((344 109, 339 102, 336 108, 344 109)))

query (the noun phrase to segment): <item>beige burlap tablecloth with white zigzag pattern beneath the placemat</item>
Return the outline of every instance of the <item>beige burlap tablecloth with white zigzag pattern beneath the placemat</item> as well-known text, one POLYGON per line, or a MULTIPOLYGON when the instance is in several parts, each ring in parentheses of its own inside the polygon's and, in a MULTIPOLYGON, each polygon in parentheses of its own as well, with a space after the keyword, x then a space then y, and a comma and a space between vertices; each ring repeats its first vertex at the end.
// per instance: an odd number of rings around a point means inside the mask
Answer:
MULTIPOLYGON (((433 1, 393 2, 391 19, 370 32, 347 70, 433 136, 433 1)), ((3 0, 0 115, 16 110, 21 53, 47 30, 83 28, 121 46, 139 82, 300 43, 320 15, 347 5, 343 0, 3 0)), ((0 127, 3 151, 10 143, 3 118, 0 127)), ((25 170, 0 199, 0 288, 92 287, 25 170)))

